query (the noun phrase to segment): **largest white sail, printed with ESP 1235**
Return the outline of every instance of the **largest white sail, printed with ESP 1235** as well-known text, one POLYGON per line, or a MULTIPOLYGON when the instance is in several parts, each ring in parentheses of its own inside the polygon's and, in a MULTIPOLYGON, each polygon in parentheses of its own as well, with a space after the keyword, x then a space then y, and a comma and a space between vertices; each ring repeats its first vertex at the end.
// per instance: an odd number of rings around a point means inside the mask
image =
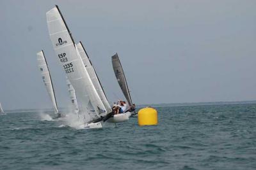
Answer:
POLYGON ((47 11, 46 17, 56 57, 76 90, 79 111, 84 114, 86 122, 99 118, 99 115, 107 113, 106 108, 83 65, 83 60, 77 52, 74 40, 58 6, 47 11), (93 110, 88 108, 90 104, 92 104, 93 110))

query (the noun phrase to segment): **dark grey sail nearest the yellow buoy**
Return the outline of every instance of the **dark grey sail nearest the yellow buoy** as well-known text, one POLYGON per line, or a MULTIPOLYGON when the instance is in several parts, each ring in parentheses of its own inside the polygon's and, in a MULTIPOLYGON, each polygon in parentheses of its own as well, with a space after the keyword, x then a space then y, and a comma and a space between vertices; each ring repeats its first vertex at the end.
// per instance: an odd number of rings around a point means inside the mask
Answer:
POLYGON ((132 106, 132 99, 127 85, 127 81, 125 79, 124 70, 122 68, 117 53, 112 56, 112 64, 116 75, 116 80, 118 81, 118 84, 120 85, 122 92, 124 93, 125 99, 127 100, 129 106, 132 106))

